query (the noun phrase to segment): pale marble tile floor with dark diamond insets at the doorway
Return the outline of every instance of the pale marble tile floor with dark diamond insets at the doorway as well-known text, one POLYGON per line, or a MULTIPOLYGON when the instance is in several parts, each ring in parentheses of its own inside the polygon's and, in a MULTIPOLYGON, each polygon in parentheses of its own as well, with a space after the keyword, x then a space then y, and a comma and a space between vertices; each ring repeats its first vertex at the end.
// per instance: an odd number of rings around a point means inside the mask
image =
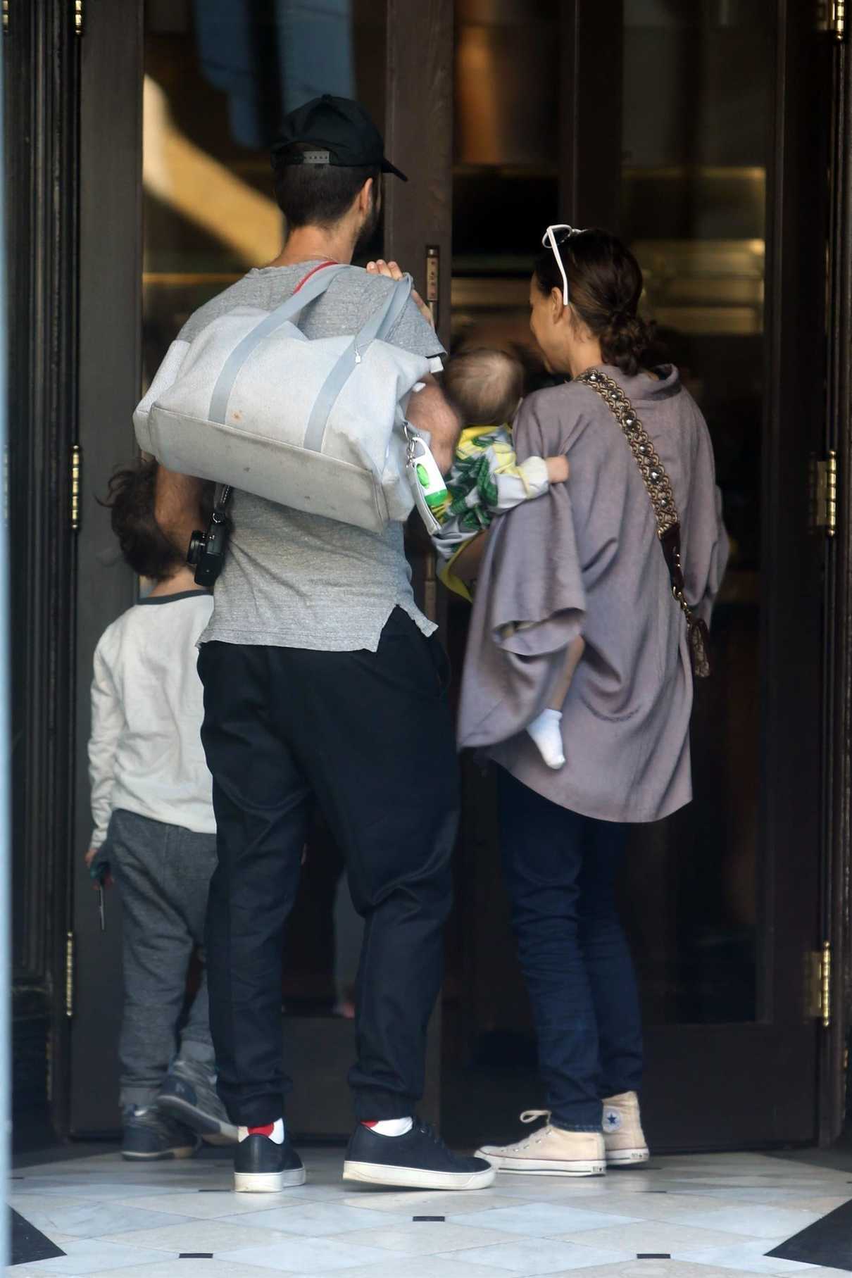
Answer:
POLYGON ((226 1159, 139 1166, 118 1153, 13 1173, 9 1204, 64 1255, 11 1278, 849 1278, 768 1252, 852 1199, 852 1172, 763 1154, 654 1159, 607 1177, 498 1176, 469 1194, 340 1181, 342 1150, 308 1150, 308 1183, 230 1191, 226 1159))

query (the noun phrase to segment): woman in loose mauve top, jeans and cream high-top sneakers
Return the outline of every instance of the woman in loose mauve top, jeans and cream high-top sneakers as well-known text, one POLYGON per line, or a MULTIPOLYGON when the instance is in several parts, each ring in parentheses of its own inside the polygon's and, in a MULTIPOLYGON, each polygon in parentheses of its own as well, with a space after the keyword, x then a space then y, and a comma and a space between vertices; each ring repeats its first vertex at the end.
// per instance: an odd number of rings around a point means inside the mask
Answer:
POLYGON ((649 332, 632 253, 600 230, 549 227, 543 243, 531 330, 548 368, 572 381, 524 401, 515 441, 519 460, 567 454, 571 478, 489 533, 460 735, 498 764, 505 873, 548 1109, 522 1116, 547 1120, 531 1136, 479 1153, 499 1171, 593 1176, 648 1160, 639 999, 614 891, 626 828, 691 799, 687 622, 639 458, 599 394, 605 378, 655 450, 649 483, 671 482, 685 596, 703 620, 727 538, 701 413, 676 368, 643 363, 649 332), (590 369, 591 382, 577 380, 590 369), (524 730, 551 704, 579 636, 585 649, 562 707, 567 762, 553 771, 524 730))

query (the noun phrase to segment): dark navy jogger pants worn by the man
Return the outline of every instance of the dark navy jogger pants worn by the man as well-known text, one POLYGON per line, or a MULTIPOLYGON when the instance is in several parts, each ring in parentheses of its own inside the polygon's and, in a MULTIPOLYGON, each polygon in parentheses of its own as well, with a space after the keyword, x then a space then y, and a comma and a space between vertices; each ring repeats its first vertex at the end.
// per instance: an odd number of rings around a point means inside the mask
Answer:
POLYGON ((365 923, 355 1113, 410 1114, 423 1095, 459 818, 443 649, 397 608, 374 653, 206 643, 198 670, 218 829, 209 1016, 231 1121, 272 1122, 291 1085, 281 1059, 284 927, 314 799, 365 923))

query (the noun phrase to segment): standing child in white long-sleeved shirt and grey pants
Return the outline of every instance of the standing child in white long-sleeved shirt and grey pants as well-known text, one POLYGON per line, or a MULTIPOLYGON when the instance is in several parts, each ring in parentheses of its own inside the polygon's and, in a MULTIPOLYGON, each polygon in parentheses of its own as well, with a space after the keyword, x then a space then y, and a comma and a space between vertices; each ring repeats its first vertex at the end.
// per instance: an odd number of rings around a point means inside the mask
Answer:
POLYGON ((119 1054, 121 1154, 130 1159, 189 1158, 199 1136, 236 1140, 216 1094, 204 976, 178 1030, 216 866, 195 671, 213 601, 155 521, 156 470, 139 463, 110 484, 124 558, 155 587, 97 645, 88 746, 95 832, 86 861, 101 881, 111 872, 124 907, 119 1054))

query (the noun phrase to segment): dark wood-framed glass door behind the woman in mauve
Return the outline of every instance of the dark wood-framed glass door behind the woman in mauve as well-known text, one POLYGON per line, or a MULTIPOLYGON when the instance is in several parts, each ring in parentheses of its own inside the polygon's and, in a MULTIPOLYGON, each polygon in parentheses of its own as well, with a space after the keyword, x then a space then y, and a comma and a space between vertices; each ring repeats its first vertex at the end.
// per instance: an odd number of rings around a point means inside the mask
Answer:
MULTIPOLYGON (((680 366, 708 419, 733 548, 714 619, 715 674, 696 698, 695 801, 636 829, 625 883, 648 1125, 671 1148, 807 1140, 824 558, 809 527, 809 464, 825 429, 828 189, 819 146, 792 121, 797 111, 829 119, 829 45, 806 18, 763 0, 623 0, 597 4, 594 15, 584 0, 540 0, 530 20, 526 8, 456 6, 453 341, 525 351, 538 385, 526 290, 542 230, 588 225, 586 208, 599 211, 609 193, 607 221, 643 266, 659 355, 680 366), (591 23, 595 38, 584 43, 591 23), (575 37, 572 61, 563 55, 575 37), (617 125, 595 120, 607 77, 617 125), (617 170, 561 169, 562 156, 588 151, 597 123, 595 146, 621 156, 617 170), (574 147, 559 129, 576 130, 574 147), (797 343, 793 366, 782 350, 797 343)), ((451 619, 461 652, 462 604, 451 604, 451 619)), ((501 1139, 538 1093, 488 787, 469 772, 445 1104, 462 1130, 470 1089, 487 1095, 501 1139), (462 944, 471 927, 475 942, 462 944)))

